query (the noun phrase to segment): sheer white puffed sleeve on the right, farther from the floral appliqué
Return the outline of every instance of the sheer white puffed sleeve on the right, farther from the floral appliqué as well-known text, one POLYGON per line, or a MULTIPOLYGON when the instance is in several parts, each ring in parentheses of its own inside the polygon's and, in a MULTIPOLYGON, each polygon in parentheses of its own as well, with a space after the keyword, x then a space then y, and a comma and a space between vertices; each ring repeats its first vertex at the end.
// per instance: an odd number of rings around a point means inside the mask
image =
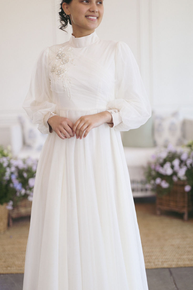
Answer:
POLYGON ((129 46, 119 41, 115 54, 115 99, 108 102, 114 130, 128 131, 139 128, 151 117, 151 106, 141 79, 139 67, 129 46))

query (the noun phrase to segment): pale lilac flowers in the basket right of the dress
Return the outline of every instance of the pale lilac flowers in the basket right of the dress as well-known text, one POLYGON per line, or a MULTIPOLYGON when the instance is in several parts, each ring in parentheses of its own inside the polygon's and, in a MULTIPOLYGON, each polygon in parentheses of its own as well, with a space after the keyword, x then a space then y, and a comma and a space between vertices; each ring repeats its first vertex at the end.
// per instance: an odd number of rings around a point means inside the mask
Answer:
POLYGON ((193 193, 193 140, 179 150, 169 144, 152 155, 152 161, 145 168, 145 177, 149 188, 160 195, 170 192, 178 180, 185 180, 184 191, 193 193))

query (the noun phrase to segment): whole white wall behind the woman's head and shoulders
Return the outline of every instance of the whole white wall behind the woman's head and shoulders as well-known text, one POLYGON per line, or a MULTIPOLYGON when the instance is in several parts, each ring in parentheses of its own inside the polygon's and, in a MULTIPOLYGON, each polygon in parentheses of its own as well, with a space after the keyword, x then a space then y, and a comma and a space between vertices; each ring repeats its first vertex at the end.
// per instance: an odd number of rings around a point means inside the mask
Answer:
MULTIPOLYGON (((23 111, 40 51, 69 39, 57 26, 58 0, 1 4, 1 111, 23 111)), ((192 0, 104 0, 102 39, 125 41, 136 58, 152 108, 193 110, 192 0)))

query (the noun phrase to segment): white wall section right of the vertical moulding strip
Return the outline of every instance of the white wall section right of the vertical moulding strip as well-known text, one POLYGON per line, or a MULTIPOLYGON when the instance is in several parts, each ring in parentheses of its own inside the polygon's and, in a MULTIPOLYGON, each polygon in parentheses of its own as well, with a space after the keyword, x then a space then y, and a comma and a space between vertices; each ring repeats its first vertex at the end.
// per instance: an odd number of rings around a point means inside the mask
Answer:
POLYGON ((152 1, 155 108, 184 108, 193 116, 193 1, 152 1))

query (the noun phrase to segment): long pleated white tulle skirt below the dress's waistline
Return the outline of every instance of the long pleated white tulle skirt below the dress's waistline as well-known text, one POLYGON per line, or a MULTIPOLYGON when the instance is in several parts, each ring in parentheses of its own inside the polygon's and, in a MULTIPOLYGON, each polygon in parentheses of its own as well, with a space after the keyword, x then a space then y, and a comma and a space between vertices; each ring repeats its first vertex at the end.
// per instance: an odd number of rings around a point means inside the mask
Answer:
MULTIPOLYGON (((102 110, 61 110, 75 122, 102 110)), ((48 135, 38 162, 23 290, 147 290, 121 135, 48 135)))

